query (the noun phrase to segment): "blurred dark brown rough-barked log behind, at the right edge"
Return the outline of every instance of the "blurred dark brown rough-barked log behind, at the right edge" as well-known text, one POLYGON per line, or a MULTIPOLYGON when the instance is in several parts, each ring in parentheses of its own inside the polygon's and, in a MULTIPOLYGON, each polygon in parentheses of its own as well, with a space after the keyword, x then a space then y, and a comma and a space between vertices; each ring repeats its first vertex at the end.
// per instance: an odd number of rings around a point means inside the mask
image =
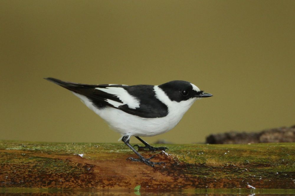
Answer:
POLYGON ((206 138, 207 144, 248 144, 295 142, 295 125, 263 130, 256 133, 235 132, 218 133, 206 138))

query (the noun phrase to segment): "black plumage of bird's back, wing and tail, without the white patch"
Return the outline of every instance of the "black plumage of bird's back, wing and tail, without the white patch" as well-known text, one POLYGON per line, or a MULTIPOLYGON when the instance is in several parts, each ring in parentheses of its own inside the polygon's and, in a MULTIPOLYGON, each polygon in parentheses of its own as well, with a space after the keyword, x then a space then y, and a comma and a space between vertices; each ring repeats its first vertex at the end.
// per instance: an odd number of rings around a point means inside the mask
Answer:
POLYGON ((107 102, 107 99, 113 100, 119 103, 123 103, 116 95, 100 91, 96 88, 106 88, 109 86, 124 88, 131 96, 136 97, 140 101, 139 108, 129 108, 127 104, 120 105, 117 109, 122 110, 126 113, 137 115, 142 118, 159 118, 164 117, 168 114, 168 108, 160 100, 155 97, 155 92, 152 85, 89 85, 80 84, 73 82, 61 81, 55 78, 44 78, 48 81, 58 84, 70 91, 86 96, 96 106, 101 109, 105 106, 117 108, 114 105, 107 102))

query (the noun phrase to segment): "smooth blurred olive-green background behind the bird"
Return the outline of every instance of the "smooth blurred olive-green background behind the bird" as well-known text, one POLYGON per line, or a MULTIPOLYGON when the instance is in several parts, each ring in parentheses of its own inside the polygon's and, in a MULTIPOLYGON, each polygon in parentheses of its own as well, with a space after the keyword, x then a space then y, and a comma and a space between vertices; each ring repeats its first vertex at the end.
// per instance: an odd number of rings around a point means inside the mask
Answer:
MULTIPOLYGON (((295 1, 0 1, 0 139, 116 142, 72 93, 186 80, 198 100, 165 138, 295 124, 295 1)), ((135 142, 136 140, 132 140, 135 142)))

